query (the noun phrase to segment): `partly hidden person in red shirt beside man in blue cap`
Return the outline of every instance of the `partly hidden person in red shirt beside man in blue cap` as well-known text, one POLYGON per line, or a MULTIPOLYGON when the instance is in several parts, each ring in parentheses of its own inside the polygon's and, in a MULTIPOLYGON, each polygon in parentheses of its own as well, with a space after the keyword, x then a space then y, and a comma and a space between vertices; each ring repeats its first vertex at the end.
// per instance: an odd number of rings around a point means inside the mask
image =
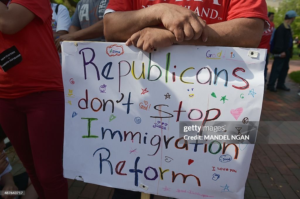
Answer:
POLYGON ((268 49, 267 56, 265 58, 265 83, 267 82, 267 70, 268 70, 267 66, 269 62, 270 41, 271 41, 272 34, 275 30, 274 23, 273 23, 274 13, 268 12, 268 18, 270 20, 270 28, 262 33, 262 39, 257 47, 257 48, 268 49))

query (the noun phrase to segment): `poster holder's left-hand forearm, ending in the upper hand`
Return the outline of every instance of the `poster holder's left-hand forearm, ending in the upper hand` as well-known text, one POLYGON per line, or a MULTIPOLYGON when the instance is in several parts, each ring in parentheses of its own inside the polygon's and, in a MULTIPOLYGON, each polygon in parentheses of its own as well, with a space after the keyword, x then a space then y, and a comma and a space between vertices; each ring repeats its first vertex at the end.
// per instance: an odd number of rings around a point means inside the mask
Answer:
POLYGON ((157 4, 125 12, 107 13, 104 16, 104 36, 107 41, 125 42, 137 31, 159 25, 157 4))

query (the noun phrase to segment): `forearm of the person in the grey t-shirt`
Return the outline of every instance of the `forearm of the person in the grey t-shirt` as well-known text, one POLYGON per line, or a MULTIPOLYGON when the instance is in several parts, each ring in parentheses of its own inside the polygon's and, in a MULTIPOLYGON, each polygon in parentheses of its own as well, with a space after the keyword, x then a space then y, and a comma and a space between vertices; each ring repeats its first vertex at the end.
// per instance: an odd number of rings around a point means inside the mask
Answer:
POLYGON ((98 21, 97 23, 89 26, 88 28, 84 28, 78 31, 75 31, 73 34, 75 40, 87 40, 87 39, 95 39, 98 37, 102 37, 103 34, 103 19, 98 21))

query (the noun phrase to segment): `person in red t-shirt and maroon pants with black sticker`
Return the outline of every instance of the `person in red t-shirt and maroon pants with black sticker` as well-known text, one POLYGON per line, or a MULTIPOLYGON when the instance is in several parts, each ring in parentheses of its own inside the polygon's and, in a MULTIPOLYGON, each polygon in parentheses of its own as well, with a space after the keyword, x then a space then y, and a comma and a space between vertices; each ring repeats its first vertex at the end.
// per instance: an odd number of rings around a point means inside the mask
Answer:
POLYGON ((65 199, 65 102, 51 21, 49 0, 0 2, 0 124, 39 198, 65 199))

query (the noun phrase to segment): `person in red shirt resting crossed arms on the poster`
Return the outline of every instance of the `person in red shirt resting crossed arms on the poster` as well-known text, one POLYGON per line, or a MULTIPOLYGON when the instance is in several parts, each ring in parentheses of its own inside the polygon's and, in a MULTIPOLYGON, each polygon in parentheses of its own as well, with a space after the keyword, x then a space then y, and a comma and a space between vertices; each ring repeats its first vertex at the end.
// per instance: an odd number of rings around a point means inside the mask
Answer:
MULTIPOLYGON (((107 41, 146 52, 172 44, 256 48, 269 28, 264 0, 110 0, 104 13, 107 41)), ((115 189, 113 199, 139 192, 115 189)))

